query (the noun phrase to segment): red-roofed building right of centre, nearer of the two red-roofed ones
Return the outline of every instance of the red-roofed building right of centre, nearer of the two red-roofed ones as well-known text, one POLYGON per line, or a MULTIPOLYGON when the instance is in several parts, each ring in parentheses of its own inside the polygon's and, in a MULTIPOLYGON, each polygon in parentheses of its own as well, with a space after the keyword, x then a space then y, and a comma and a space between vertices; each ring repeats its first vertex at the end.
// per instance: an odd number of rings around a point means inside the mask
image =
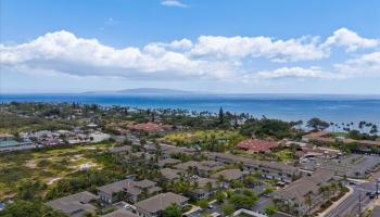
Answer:
POLYGON ((246 139, 237 144, 237 148, 252 153, 268 152, 276 146, 277 142, 259 139, 246 139))

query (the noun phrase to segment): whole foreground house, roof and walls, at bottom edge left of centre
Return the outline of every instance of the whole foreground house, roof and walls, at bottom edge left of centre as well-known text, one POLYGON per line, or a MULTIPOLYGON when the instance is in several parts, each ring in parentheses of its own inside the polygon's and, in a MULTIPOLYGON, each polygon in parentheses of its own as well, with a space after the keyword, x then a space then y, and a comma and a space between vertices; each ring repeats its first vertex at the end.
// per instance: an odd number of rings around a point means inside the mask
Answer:
POLYGON ((186 196, 167 192, 140 201, 135 206, 137 214, 141 217, 159 217, 172 204, 183 208, 188 205, 188 201, 186 196))

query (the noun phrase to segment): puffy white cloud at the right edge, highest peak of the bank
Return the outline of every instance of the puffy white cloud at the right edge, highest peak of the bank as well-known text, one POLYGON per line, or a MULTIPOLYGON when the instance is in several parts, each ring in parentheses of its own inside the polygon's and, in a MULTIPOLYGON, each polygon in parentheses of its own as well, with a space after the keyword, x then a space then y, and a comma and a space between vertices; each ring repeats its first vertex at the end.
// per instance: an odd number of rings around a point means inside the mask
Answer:
POLYGON ((363 38, 355 31, 340 28, 327 38, 322 47, 345 47, 347 52, 353 52, 357 49, 375 48, 379 44, 379 39, 363 38))

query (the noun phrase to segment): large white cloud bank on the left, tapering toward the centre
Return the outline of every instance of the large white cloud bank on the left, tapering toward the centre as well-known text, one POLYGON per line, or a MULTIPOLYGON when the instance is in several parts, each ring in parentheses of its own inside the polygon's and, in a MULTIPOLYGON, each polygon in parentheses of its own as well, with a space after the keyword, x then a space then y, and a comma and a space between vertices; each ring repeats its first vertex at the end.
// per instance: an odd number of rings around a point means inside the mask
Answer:
MULTIPOLYGON (((169 46, 178 46, 175 42, 169 46)), ((232 76, 229 62, 191 60, 180 52, 148 44, 114 49, 96 39, 77 38, 67 31, 47 34, 28 43, 0 46, 0 63, 5 67, 54 71, 77 76, 119 76, 127 78, 217 78, 232 76)))

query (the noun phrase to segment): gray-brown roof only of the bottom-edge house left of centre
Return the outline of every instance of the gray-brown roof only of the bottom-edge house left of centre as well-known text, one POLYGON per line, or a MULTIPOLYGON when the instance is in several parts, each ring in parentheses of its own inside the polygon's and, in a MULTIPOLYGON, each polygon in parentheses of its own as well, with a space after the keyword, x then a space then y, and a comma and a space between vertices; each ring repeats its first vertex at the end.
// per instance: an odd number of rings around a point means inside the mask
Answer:
POLYGON ((165 209, 169 205, 187 202, 189 199, 172 192, 161 193, 135 204, 137 208, 149 213, 155 213, 165 209))

